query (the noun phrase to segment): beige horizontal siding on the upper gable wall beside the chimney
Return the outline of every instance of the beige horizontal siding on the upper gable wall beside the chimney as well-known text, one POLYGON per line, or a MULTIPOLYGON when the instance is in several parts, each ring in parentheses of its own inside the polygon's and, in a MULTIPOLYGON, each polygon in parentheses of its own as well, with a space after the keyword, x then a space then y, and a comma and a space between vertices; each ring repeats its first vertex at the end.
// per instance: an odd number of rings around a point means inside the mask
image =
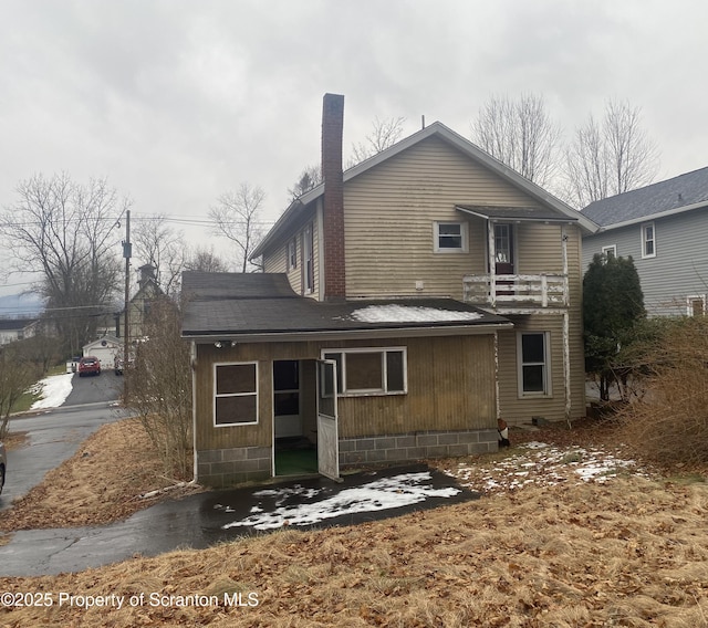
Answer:
MULTIPOLYGON (((347 296, 462 299, 462 278, 487 272, 487 222, 464 214, 456 205, 538 207, 534 199, 436 137, 346 182, 347 296), (436 253, 436 221, 468 222, 468 251, 436 253), (423 290, 416 289, 417 282, 423 290)), ((535 248, 533 254, 542 250, 535 248)), ((559 238, 553 266, 560 265, 559 238)))

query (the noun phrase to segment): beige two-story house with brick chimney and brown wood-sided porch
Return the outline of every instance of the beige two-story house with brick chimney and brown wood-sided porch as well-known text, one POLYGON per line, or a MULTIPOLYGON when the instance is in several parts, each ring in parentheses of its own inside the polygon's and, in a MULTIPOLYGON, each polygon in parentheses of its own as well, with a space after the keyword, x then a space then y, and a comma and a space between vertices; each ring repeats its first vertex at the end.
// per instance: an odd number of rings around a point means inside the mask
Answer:
POLYGON ((509 423, 585 412, 581 234, 594 224, 440 123, 324 182, 254 251, 264 273, 184 273, 195 472, 321 473, 493 451, 509 423))

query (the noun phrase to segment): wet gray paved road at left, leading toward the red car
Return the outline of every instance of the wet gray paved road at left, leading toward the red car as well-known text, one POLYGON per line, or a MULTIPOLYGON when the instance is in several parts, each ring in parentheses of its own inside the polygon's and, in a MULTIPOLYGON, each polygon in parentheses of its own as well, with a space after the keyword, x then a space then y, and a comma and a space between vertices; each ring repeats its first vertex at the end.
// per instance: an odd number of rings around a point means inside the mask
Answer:
POLYGON ((116 406, 119 388, 115 386, 114 377, 113 373, 100 377, 74 375, 74 388, 64 406, 10 420, 12 431, 27 432, 28 447, 8 452, 8 477, 0 495, 0 511, 10 507, 12 500, 27 493, 48 471, 71 458, 102 425, 128 416, 116 406), (103 379, 105 381, 98 381, 103 379), (67 405, 72 399, 91 399, 92 402, 67 405))

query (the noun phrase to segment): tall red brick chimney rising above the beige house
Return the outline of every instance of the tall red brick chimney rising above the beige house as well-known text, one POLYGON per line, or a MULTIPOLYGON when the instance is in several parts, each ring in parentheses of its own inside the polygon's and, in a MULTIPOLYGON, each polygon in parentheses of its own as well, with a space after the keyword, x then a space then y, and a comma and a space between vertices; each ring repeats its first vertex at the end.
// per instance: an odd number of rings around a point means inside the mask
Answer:
POLYGON ((346 296, 344 270, 344 182, 342 139, 344 96, 325 94, 322 103, 322 178, 324 180, 324 299, 346 296))

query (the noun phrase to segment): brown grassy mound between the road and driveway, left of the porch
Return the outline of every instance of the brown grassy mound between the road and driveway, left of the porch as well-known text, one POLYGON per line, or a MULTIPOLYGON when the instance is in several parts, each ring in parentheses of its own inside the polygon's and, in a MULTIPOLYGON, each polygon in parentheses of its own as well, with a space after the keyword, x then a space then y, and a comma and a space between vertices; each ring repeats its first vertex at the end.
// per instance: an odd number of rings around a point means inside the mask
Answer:
POLYGON ((148 491, 174 484, 137 419, 103 426, 73 458, 0 513, 0 530, 95 525, 124 519, 159 498, 148 491))

